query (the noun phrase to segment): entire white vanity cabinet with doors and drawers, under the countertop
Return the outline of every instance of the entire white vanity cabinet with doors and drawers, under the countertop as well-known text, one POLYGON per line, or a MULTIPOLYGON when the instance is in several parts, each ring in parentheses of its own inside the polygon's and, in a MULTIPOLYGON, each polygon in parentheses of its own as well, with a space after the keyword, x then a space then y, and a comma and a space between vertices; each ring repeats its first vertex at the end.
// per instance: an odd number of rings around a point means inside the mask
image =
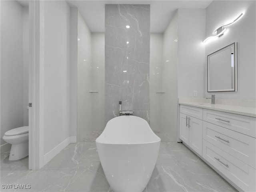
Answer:
POLYGON ((239 191, 256 191, 256 118, 180 104, 180 139, 239 191))

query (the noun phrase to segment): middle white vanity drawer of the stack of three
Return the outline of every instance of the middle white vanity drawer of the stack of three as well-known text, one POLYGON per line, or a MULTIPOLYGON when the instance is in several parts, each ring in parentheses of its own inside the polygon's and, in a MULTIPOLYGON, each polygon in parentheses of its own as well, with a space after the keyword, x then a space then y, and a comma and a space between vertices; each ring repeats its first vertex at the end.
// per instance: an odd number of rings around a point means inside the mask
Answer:
POLYGON ((255 138, 204 121, 203 139, 256 168, 255 138))

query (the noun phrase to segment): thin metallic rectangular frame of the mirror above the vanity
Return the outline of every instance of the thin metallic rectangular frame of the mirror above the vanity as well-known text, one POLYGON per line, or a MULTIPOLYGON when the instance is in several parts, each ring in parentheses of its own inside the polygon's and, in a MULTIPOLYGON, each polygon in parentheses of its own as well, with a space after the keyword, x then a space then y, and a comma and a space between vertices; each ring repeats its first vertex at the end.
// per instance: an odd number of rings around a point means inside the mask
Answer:
POLYGON ((220 50, 213 52, 212 54, 209 54, 207 56, 207 92, 228 92, 228 91, 235 91, 235 92, 237 91, 237 43, 236 42, 234 42, 224 48, 221 48, 220 50), (213 55, 216 55, 219 52, 222 52, 232 46, 234 46, 234 79, 232 80, 234 88, 210 90, 210 57, 213 55))

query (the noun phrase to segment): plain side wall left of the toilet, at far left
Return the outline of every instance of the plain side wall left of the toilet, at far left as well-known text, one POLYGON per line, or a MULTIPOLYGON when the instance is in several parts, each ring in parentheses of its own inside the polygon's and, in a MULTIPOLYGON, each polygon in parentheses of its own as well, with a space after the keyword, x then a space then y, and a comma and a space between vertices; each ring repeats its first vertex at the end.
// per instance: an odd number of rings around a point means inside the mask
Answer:
POLYGON ((23 126, 22 6, 1 1, 1 146, 4 133, 23 126))

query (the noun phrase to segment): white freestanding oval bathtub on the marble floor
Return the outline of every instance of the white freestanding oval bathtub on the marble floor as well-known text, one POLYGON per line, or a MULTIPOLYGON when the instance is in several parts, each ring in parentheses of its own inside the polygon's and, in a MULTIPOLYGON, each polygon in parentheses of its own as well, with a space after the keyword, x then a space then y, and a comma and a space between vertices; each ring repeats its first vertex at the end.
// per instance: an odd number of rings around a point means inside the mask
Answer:
POLYGON ((154 170, 161 139, 136 116, 111 119, 96 139, 102 168, 114 192, 142 192, 154 170))

